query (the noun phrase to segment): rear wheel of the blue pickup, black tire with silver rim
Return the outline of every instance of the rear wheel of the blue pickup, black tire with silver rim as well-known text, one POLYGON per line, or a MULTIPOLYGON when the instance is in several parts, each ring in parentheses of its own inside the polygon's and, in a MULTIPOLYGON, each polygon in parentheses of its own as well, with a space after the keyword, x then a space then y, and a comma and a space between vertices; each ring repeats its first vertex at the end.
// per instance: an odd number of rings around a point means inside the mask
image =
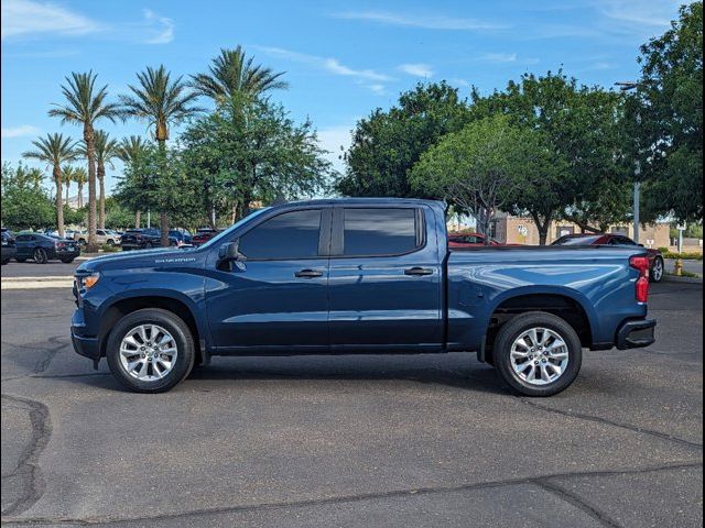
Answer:
POLYGON ((497 371, 514 393, 553 396, 577 377, 583 362, 583 345, 564 319, 543 311, 530 311, 500 328, 492 354, 497 371), (536 343, 531 342, 533 330, 536 331, 536 343), (540 380, 535 378, 536 373, 540 380))

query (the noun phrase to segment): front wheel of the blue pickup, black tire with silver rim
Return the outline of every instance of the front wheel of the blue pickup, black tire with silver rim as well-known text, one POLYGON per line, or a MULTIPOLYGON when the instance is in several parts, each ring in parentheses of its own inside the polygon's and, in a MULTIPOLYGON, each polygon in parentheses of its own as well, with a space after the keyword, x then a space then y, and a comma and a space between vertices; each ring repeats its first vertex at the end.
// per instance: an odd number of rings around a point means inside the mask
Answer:
MULTIPOLYGON (((167 353, 166 359, 174 358, 167 350, 164 349, 167 353)), ((158 308, 137 310, 124 316, 112 328, 106 346, 110 372, 124 387, 135 393, 164 393, 173 388, 188 375, 194 366, 195 355, 193 336, 186 323, 171 311, 158 308), (140 327, 145 327, 145 333, 140 334, 140 327), (156 328, 156 330, 152 330, 152 328, 156 328), (152 336, 154 331, 156 331, 156 336, 152 336), (137 338, 128 340, 128 343, 124 344, 126 338, 135 334, 137 338), (145 336, 147 342, 150 342, 152 339, 163 341, 167 334, 171 339, 166 341, 164 346, 171 345, 170 349, 175 350, 175 360, 170 362, 172 364, 170 370, 166 370, 169 362, 159 358, 160 355, 164 358, 163 354, 155 354, 153 362, 150 362, 149 355, 153 353, 153 349, 147 346, 145 352, 140 349, 140 336, 145 336), (137 344, 132 345, 129 341, 137 344), (135 354, 122 353, 121 345, 124 345, 128 353, 134 349, 135 354), (132 374, 128 370, 130 363, 134 365, 132 374), (163 377, 156 375, 160 374, 161 369, 166 371, 165 373, 162 371, 163 377), (143 380, 138 376, 142 376, 143 380)))

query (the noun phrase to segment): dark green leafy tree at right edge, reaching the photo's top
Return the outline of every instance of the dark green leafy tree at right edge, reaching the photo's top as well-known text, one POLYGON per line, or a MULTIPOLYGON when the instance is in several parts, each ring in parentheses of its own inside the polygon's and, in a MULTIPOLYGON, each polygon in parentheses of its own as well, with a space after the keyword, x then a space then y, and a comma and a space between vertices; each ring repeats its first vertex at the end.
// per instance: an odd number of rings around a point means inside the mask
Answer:
POLYGON ((647 219, 703 218, 703 2, 680 9, 662 36, 641 46, 631 136, 644 180, 647 219))

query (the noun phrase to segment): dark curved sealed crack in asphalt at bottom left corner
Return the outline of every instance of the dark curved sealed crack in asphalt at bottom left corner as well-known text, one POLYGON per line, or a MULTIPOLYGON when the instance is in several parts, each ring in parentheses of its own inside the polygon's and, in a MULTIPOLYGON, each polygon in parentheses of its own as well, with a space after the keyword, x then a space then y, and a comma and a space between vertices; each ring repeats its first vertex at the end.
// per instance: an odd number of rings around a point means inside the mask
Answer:
POLYGON ((2 515, 19 515, 30 509, 42 497, 46 483, 42 476, 39 465, 39 458, 48 443, 52 435, 52 422, 50 419, 48 407, 34 399, 22 398, 10 394, 2 394, 2 399, 14 404, 24 405, 24 410, 30 411, 30 421, 32 424, 32 432, 30 442, 26 444, 18 465, 8 477, 20 477, 22 482, 22 494, 20 497, 2 510, 2 515))

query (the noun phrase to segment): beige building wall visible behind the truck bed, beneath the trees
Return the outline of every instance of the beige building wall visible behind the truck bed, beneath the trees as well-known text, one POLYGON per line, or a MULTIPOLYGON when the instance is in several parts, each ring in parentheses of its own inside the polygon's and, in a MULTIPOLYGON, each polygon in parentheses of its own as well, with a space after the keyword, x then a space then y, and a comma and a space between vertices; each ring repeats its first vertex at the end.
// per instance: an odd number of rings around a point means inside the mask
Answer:
MULTIPOLYGON (((627 237, 633 239, 633 227, 631 224, 610 227, 609 232, 616 231, 623 232, 627 237)), ((560 235, 571 232, 579 233, 581 228, 565 221, 552 222, 549 228, 546 243, 550 244, 560 235)), ((533 220, 529 218, 500 217, 495 220, 495 238, 508 244, 538 245, 539 230, 533 220)), ((647 248, 668 248, 670 245, 669 224, 657 223, 641 227, 639 230, 639 242, 647 248)))

